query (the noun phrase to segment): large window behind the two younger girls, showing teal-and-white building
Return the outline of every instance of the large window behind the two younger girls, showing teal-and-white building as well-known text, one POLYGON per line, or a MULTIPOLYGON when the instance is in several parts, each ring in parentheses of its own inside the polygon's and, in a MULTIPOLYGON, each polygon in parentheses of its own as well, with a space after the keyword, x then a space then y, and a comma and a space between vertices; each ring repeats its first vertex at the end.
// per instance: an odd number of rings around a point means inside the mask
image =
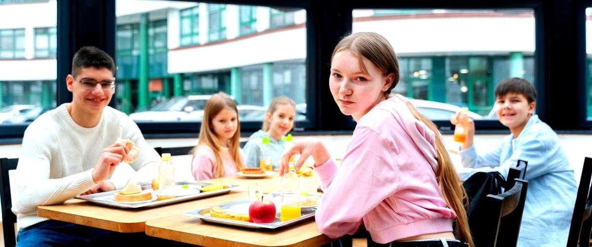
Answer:
MULTIPOLYGON (((243 128, 259 128, 276 96, 294 99, 297 119, 307 119, 304 25, 275 31, 269 22, 274 9, 266 6, 160 4, 117 16, 115 99, 120 111, 138 122, 201 121, 203 103, 225 92, 238 103, 240 119, 253 122, 243 128), (147 28, 145 44, 142 28, 147 28)), ((292 24, 305 24, 304 9, 289 9, 289 15, 292 24)))

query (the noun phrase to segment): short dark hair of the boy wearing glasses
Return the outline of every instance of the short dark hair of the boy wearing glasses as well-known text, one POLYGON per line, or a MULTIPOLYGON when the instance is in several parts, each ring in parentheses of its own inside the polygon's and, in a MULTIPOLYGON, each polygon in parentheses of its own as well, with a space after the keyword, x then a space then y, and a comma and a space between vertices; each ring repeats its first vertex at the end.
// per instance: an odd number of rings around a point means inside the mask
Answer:
POLYGON ((72 59, 72 76, 76 77, 82 68, 107 68, 115 76, 115 62, 109 54, 94 46, 80 48, 72 59))

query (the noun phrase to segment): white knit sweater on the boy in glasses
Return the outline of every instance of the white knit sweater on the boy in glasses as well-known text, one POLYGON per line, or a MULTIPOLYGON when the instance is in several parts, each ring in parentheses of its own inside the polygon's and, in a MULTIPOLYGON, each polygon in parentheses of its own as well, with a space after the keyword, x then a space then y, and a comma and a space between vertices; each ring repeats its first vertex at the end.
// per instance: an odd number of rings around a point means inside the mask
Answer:
MULTIPOLYGON (((83 128, 67 112, 68 104, 39 116, 22 138, 13 185, 17 193, 12 196, 18 229, 47 220, 37 216, 37 206, 60 204, 91 189, 92 171, 102 150, 118 137, 131 139, 140 148, 139 158, 130 164, 137 171, 136 181, 149 184, 157 174, 159 155, 126 114, 107 106, 98 125, 83 128)), ((112 182, 116 187, 126 183, 112 182)))

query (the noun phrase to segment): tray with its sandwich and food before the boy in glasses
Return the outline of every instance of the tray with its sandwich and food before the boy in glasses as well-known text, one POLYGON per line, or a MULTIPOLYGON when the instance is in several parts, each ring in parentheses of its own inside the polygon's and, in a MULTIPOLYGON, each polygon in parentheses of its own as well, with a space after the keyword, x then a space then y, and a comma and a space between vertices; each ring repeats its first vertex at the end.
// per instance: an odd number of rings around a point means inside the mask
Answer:
POLYGON ((119 207, 121 209, 140 209, 226 194, 235 187, 238 186, 211 184, 200 181, 179 181, 169 191, 174 196, 159 197, 157 190, 153 190, 153 186, 139 186, 130 180, 126 187, 121 190, 76 196, 75 198, 105 206, 119 207))

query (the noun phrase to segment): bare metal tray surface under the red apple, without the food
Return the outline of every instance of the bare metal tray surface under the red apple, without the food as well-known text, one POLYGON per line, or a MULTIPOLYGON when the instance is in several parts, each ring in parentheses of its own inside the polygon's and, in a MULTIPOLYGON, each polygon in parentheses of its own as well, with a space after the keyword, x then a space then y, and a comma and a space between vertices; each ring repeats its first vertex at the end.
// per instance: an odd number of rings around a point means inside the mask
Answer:
MULTIPOLYGON (((266 195, 265 198, 272 199, 272 200, 279 199, 279 193, 272 193, 269 195, 271 195, 271 197, 268 197, 268 195, 266 195)), ((275 203, 275 201, 276 200, 274 200, 274 203, 275 203)), ((283 228, 285 226, 294 225, 295 223, 301 222, 303 220, 310 219, 310 218, 314 217, 314 213, 316 212, 316 207, 314 207, 310 210, 306 210, 306 211, 303 210, 302 216, 300 216, 296 219, 293 219, 293 220, 282 222, 281 220, 279 220, 279 210, 276 210, 275 220, 274 220, 274 222, 271 222, 271 223, 253 223, 253 222, 245 222, 245 221, 239 221, 239 220, 222 219, 222 218, 210 216, 210 209, 212 207, 218 206, 218 207, 222 207, 222 209, 229 209, 230 207, 238 205, 238 204, 250 204, 250 202, 249 202, 249 199, 238 200, 238 201, 234 201, 234 202, 223 203, 223 204, 219 204, 219 205, 215 205, 215 206, 211 206, 211 207, 206 207, 206 208, 200 209, 200 210, 194 210, 191 212, 184 213, 183 215, 197 217, 197 218, 200 218, 201 220, 203 220, 204 222, 219 223, 222 225, 240 226, 243 228, 254 228, 254 229, 278 229, 278 228, 283 228)), ((276 203, 276 205, 278 205, 278 204, 276 203)))

